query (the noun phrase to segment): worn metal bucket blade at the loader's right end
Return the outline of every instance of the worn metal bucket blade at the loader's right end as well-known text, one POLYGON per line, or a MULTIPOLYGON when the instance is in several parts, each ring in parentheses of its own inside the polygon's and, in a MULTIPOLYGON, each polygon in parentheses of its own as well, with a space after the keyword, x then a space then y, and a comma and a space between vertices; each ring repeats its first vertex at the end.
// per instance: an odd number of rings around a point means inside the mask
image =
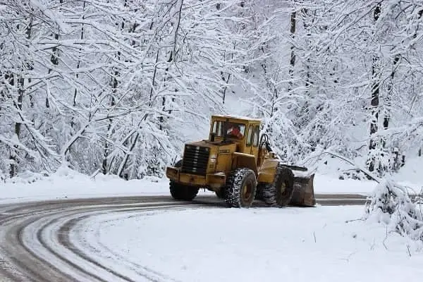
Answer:
POLYGON ((291 206, 314 207, 316 197, 314 196, 314 173, 307 175, 307 168, 301 166, 288 166, 294 173, 294 191, 290 200, 291 206))

